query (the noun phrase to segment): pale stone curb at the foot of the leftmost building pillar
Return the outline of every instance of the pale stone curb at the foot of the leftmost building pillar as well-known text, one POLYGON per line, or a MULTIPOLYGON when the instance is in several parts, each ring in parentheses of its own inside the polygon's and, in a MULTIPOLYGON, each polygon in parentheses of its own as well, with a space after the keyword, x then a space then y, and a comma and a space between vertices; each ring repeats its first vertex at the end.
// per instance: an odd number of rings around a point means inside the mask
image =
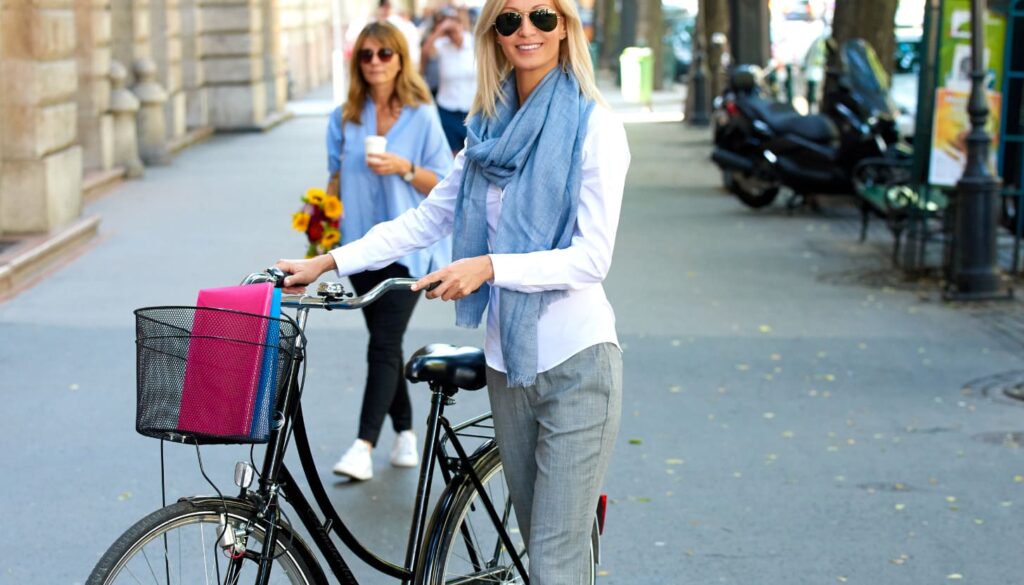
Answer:
POLYGON ((47 268, 85 250, 84 244, 95 238, 99 216, 78 219, 54 234, 30 238, 9 254, 0 255, 0 301, 22 292, 47 268))

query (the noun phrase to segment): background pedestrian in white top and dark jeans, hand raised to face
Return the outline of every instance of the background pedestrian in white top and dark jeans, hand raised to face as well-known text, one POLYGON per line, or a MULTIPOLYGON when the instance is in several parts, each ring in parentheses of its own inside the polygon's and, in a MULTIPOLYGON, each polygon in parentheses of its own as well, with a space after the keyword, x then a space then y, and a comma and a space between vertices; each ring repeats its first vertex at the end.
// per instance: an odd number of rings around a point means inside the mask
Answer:
POLYGON ((437 113, 453 153, 466 142, 466 116, 476 95, 476 59, 469 12, 444 8, 423 43, 423 58, 437 62, 437 113))

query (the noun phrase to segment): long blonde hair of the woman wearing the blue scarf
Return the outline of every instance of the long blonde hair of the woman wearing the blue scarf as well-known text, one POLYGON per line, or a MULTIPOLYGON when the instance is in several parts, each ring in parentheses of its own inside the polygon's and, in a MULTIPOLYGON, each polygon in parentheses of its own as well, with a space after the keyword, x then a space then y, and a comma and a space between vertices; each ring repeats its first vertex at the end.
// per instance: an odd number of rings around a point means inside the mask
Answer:
MULTIPOLYGON (((571 0, 551 0, 555 11, 561 16, 565 27, 565 38, 558 47, 558 65, 562 71, 575 77, 580 84, 580 93, 605 105, 597 83, 594 81, 594 66, 590 60, 587 36, 583 32, 583 23, 575 3, 571 0)), ((505 0, 487 0, 476 22, 474 40, 476 41, 476 97, 469 109, 469 115, 482 112, 484 116, 494 117, 498 100, 505 101, 510 96, 502 91, 502 83, 512 72, 512 64, 505 57, 502 48, 498 46, 498 33, 495 31, 495 18, 505 8, 505 0)), ((514 96, 511 96, 514 97, 514 96)))

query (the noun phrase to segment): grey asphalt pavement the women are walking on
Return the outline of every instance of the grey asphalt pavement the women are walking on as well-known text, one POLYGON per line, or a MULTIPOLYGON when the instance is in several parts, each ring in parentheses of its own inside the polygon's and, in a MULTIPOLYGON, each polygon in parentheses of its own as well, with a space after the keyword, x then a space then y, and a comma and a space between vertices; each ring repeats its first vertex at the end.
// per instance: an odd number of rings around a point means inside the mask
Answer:
MULTIPOLYGON (((664 95, 663 95, 664 96, 664 95)), ((672 95, 665 103, 675 101, 672 95)), ((828 205, 753 212, 719 189, 707 131, 629 114, 633 153, 606 290, 626 364, 606 479, 598 583, 1019 583, 1024 562, 1024 325, 1016 303, 944 303, 888 264, 888 235, 856 239, 828 205), (997 380, 998 381, 998 380, 997 380)), ((134 432, 132 309, 189 304, 300 254, 290 215, 324 182, 326 119, 217 135, 89 205, 100 238, 0 304, 0 583, 83 583, 125 529, 160 506, 159 444, 134 432)), ((449 304, 421 301, 407 351, 479 344, 449 304)), ((352 530, 401 558, 415 472, 335 479, 365 376, 358 315, 310 320, 307 426, 352 530)), ((412 388, 422 431, 426 390, 412 388)), ((458 398, 451 418, 487 409, 458 398)), ((233 492, 248 449, 203 449, 233 492)), ((212 489, 168 446, 168 498, 212 489)), ((394 583, 348 555, 362 583, 394 583)))

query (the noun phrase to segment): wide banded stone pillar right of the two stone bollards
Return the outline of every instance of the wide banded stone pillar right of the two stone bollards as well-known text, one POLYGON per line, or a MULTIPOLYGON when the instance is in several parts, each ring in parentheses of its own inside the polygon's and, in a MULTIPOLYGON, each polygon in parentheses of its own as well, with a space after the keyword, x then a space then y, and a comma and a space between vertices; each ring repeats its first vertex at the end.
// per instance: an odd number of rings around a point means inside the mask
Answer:
POLYGON ((203 73, 217 130, 255 130, 267 122, 259 1, 199 0, 203 73))

